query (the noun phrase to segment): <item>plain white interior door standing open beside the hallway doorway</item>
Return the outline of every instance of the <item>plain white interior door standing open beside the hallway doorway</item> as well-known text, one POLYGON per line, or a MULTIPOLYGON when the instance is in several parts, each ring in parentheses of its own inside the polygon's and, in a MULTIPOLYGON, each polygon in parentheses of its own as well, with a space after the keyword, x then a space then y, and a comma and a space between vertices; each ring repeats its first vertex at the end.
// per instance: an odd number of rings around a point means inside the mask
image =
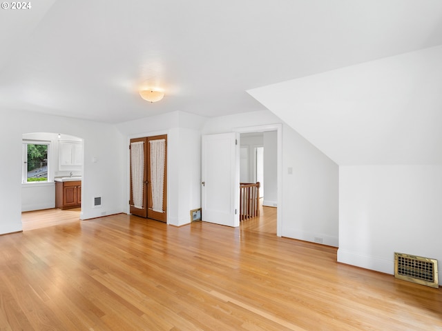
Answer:
POLYGON ((202 221, 239 226, 239 134, 202 136, 202 221))

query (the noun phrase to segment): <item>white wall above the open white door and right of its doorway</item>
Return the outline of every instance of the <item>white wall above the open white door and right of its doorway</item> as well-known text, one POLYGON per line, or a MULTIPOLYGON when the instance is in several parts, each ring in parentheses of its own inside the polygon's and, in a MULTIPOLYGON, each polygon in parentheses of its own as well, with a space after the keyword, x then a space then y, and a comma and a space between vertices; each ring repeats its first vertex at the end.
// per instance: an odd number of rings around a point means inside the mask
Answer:
MULTIPOLYGON (((202 133, 275 123, 282 121, 270 111, 247 112, 208 119, 202 133)), ((338 165, 283 123, 282 170, 282 236, 337 246, 338 165)))

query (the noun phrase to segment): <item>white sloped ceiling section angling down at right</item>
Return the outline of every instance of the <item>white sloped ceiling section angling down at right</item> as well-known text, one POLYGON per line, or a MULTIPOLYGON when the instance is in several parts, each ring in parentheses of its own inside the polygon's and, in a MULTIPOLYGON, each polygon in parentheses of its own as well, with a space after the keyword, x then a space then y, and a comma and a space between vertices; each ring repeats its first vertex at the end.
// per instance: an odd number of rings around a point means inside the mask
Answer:
POLYGON ((249 93, 339 165, 442 164, 442 46, 249 93))

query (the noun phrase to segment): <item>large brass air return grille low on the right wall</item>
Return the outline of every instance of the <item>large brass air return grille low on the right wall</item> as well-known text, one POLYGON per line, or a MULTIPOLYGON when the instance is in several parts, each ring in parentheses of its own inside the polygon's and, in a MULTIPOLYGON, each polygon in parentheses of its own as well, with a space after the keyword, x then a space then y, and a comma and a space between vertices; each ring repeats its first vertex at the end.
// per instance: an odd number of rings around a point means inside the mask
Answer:
POLYGON ((394 277, 439 288, 437 260, 394 253, 394 277))

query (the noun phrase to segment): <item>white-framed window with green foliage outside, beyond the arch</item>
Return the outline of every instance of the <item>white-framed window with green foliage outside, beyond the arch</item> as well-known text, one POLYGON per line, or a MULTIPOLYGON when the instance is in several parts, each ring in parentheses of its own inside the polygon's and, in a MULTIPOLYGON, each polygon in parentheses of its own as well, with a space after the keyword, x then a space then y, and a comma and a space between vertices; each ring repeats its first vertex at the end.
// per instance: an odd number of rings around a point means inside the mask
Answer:
POLYGON ((49 142, 23 141, 22 183, 48 181, 49 142))

